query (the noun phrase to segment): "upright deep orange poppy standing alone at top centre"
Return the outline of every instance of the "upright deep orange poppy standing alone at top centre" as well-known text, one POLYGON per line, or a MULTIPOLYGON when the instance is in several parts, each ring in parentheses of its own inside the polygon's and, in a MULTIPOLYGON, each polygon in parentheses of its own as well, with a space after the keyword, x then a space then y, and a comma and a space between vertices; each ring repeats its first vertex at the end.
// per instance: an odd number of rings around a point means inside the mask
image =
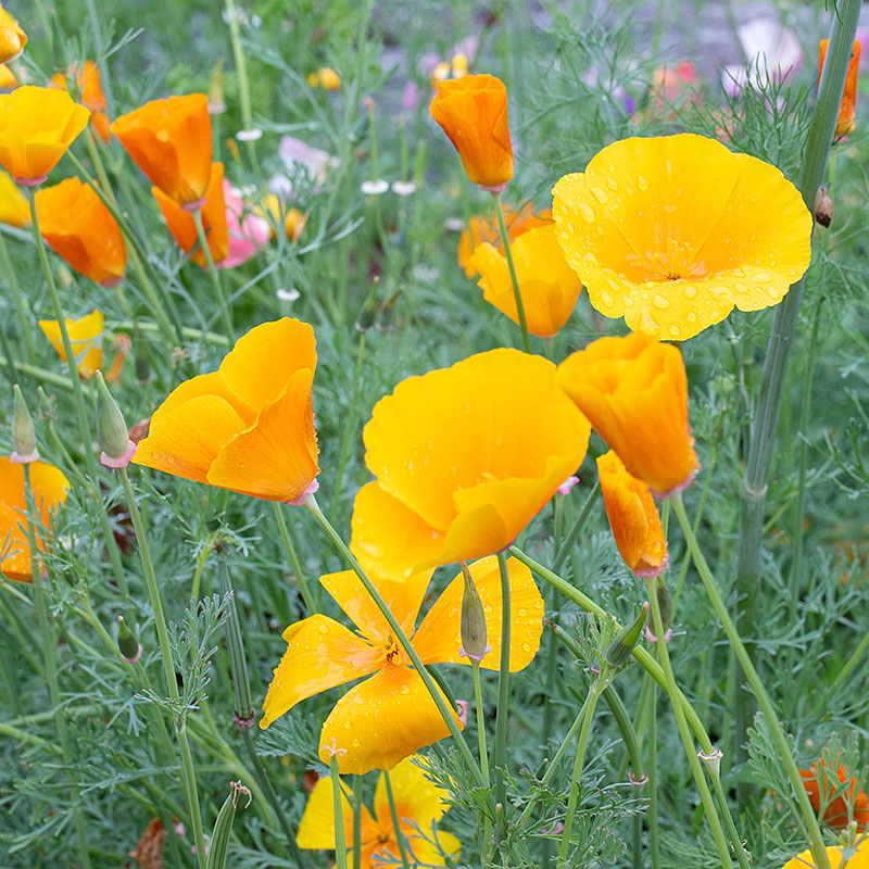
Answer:
POLYGON ((445 79, 429 112, 458 151, 468 178, 483 189, 503 190, 513 177, 504 83, 493 75, 445 79))

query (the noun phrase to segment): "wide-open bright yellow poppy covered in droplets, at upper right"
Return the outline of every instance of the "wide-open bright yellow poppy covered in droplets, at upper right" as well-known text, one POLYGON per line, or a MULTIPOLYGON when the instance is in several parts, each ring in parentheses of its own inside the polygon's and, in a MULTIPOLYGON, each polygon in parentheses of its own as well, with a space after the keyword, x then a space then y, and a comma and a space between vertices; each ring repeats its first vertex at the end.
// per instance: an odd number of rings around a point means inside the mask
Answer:
POLYGON ((553 189, 567 262, 634 331, 691 338, 778 304, 811 257, 811 215, 777 169, 683 133, 624 139, 553 189))

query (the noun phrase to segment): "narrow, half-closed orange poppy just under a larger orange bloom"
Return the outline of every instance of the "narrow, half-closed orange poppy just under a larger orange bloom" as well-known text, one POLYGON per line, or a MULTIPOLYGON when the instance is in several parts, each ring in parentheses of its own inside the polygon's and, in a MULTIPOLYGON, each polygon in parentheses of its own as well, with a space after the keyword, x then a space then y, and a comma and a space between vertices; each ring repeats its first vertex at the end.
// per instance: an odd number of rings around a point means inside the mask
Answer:
POLYGON ((606 517, 625 564, 638 577, 657 576, 669 561, 660 516, 648 486, 610 450, 597 458, 606 517))

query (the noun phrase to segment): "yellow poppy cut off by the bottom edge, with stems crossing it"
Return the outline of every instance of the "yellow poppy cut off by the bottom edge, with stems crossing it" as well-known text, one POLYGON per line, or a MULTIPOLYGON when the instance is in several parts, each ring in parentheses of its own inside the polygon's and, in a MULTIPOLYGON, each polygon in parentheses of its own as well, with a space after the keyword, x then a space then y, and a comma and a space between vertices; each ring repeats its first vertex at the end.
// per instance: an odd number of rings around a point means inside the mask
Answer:
MULTIPOLYGON (((459 841, 450 833, 432 830, 448 810, 448 794, 426 778, 419 764, 423 758, 408 757, 390 773, 392 797, 399 831, 404 835, 411 866, 446 869, 443 855, 457 857, 459 841), (437 841, 437 845, 436 845, 437 841)), ((374 795, 374 814, 362 806, 360 824, 360 869, 399 869, 402 866, 396 830, 383 776, 377 782, 374 795)), ((349 865, 353 866, 356 847, 353 842, 353 808, 341 795, 341 821, 347 835, 349 865)), ((335 847, 335 796, 331 779, 319 779, 311 792, 295 841, 300 848, 335 847)))

